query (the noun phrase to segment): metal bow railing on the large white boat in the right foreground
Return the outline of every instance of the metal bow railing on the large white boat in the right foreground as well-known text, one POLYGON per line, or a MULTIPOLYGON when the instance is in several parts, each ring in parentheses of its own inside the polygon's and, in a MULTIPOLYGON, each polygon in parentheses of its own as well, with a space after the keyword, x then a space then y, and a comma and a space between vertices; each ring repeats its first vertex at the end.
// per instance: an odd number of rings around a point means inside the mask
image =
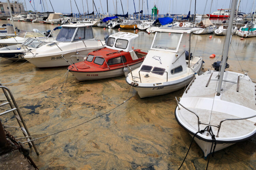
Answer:
MULTIPOLYGON (((222 121, 219 122, 218 125, 213 125, 213 124, 209 124, 209 123, 202 123, 202 122, 199 121, 199 116, 198 116, 195 112, 193 112, 193 111, 191 111, 190 109, 188 109, 188 108, 186 108, 185 106, 183 106, 183 105, 178 101, 177 97, 175 97, 175 99, 176 99, 177 106, 178 106, 178 109, 179 109, 179 110, 180 110, 180 106, 179 106, 179 105, 181 105, 181 106, 182 106, 183 108, 185 108, 187 111, 189 111, 189 112, 191 112, 191 113, 193 113, 193 114, 195 114, 195 115, 197 116, 198 132, 200 131, 200 128, 199 128, 199 125, 200 125, 200 124, 205 124, 205 125, 209 125, 209 126, 214 126, 214 127, 218 128, 218 132, 217 132, 216 137, 219 137, 219 130, 221 129, 221 124, 222 124, 222 122, 224 122, 224 121, 226 121, 226 120, 244 120, 244 119, 250 119, 250 118, 256 117, 256 115, 254 115, 254 116, 245 117, 245 118, 223 119, 222 121)), ((209 128, 208 128, 208 130, 209 130, 209 128)))

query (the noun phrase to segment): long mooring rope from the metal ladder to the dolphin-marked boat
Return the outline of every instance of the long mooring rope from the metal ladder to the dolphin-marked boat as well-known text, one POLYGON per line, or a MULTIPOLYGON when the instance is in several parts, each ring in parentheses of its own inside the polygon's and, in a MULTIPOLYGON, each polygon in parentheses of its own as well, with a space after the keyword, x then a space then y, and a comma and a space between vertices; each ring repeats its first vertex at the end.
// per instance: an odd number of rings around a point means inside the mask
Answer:
POLYGON ((121 104, 117 105, 116 107, 110 109, 108 112, 105 112, 105 113, 103 113, 103 114, 101 114, 101 115, 99 115, 99 116, 96 116, 95 118, 92 118, 92 119, 87 120, 87 121, 85 121, 85 122, 83 122, 83 123, 77 124, 77 125, 75 125, 75 126, 72 126, 72 127, 70 127, 70 128, 61 130, 61 131, 59 131, 59 132, 55 132, 55 133, 50 134, 50 135, 42 136, 42 137, 39 137, 39 138, 34 138, 34 139, 27 140, 27 141, 25 141, 25 142, 20 142, 20 143, 27 143, 27 142, 35 141, 35 140, 38 140, 38 139, 41 139, 41 138, 45 138, 45 137, 48 137, 48 136, 52 136, 52 135, 55 135, 55 134, 58 134, 58 133, 61 133, 61 132, 70 130, 70 129, 75 128, 75 127, 77 127, 77 126, 80 126, 80 125, 82 125, 82 124, 88 123, 88 122, 90 122, 90 121, 92 121, 92 120, 94 120, 94 119, 97 119, 97 118, 99 118, 99 117, 101 117, 101 116, 103 116, 103 115, 105 115, 105 114, 107 114, 107 113, 113 111, 113 110, 116 109, 117 107, 121 106, 122 104, 124 104, 125 102, 127 102, 128 100, 130 100, 131 98, 133 98, 136 94, 137 94, 137 92, 134 93, 131 97, 129 97, 129 98, 126 99, 125 101, 123 101, 123 103, 121 103, 121 104))

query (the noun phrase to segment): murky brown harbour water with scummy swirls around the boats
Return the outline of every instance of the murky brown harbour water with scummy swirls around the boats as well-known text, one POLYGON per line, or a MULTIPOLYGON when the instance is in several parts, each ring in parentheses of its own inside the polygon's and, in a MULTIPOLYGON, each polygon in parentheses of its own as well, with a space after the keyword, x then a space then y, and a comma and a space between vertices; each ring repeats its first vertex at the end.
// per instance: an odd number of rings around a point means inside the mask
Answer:
MULTIPOLYGON (((0 21, 3 23, 6 21, 0 21)), ((19 29, 37 28, 40 31, 56 26, 29 22, 15 24, 19 29)), ((100 28, 93 31, 99 39, 118 32, 117 29, 100 28)), ((143 31, 138 34, 134 48, 149 50, 154 34, 143 31)), ((224 43, 224 36, 208 37, 193 35, 191 40, 191 51, 194 56, 203 57, 205 69, 211 68, 214 61, 221 60, 224 43), (216 54, 216 58, 209 58, 211 54, 216 54)), ((234 35, 231 44, 230 68, 227 70, 243 70, 256 82, 256 39, 240 40, 234 35)), ((136 92, 125 82, 124 76, 79 82, 69 74, 67 83, 61 88, 66 68, 39 69, 30 63, 22 63, 0 60, 0 83, 12 90, 34 138, 108 112, 136 92), (9 69, 13 70, 6 71, 9 69)), ((175 96, 181 97, 183 91, 144 99, 135 95, 100 118, 36 140, 40 155, 37 156, 33 149, 30 155, 40 169, 177 169, 192 140, 174 116, 175 96)), ((1 94, 0 100, 3 99, 1 94)), ((12 114, 1 116, 1 121, 4 125, 17 125, 12 114)), ((22 136, 18 130, 8 130, 15 136, 22 136)), ((203 152, 194 142, 182 169, 205 169, 206 165, 203 152)), ((216 152, 209 163, 209 169, 255 167, 256 137, 216 152)))

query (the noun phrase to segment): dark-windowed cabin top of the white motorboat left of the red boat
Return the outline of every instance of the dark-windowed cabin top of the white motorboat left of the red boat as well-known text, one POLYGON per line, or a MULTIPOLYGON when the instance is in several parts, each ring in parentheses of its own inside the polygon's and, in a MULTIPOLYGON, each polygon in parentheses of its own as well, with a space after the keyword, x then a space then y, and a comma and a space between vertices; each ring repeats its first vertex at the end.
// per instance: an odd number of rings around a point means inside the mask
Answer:
POLYGON ((71 42, 93 39, 91 23, 64 24, 62 25, 56 41, 71 42))

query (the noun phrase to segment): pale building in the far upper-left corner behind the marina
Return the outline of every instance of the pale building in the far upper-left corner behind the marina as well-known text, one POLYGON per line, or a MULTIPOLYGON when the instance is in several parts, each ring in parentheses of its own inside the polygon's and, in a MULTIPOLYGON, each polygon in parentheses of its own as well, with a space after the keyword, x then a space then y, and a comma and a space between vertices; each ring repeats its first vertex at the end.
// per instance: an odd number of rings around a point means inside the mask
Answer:
MULTIPOLYGON (((13 14, 24 13, 24 6, 18 1, 10 1, 10 7, 13 14)), ((7 1, 0 1, 1 15, 10 15, 7 1)))

